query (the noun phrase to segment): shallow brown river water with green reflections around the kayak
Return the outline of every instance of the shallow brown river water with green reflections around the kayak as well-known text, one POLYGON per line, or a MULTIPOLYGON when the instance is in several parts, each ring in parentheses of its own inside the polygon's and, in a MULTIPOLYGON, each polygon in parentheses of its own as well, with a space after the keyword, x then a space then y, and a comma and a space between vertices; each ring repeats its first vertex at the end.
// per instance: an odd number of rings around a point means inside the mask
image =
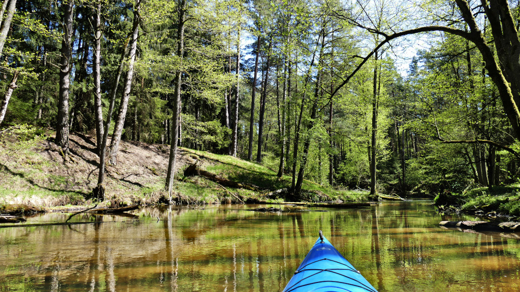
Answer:
POLYGON ((520 290, 520 241, 440 228, 474 218, 443 217, 430 204, 145 208, 136 218, 71 220, 103 223, 0 228, 0 291, 281 291, 320 229, 379 291, 520 290))

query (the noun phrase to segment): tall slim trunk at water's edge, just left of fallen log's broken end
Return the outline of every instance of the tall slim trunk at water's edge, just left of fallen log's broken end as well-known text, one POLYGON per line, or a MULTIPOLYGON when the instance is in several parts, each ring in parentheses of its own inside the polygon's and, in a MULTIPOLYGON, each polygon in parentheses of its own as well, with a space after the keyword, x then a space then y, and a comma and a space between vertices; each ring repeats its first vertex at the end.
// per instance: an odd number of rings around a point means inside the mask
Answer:
MULTIPOLYGON (((177 28, 177 57, 180 63, 183 62, 184 55, 184 23, 186 12, 186 0, 179 0, 179 24, 177 28)), ((179 105, 180 105, 180 87, 182 85, 182 71, 180 68, 175 74, 175 97, 173 102, 172 116, 172 144, 170 146, 170 160, 168 161, 168 173, 166 175, 166 190, 168 195, 172 195, 173 179, 175 176, 175 163, 177 161, 177 139, 178 139, 178 123, 179 123, 179 105)))

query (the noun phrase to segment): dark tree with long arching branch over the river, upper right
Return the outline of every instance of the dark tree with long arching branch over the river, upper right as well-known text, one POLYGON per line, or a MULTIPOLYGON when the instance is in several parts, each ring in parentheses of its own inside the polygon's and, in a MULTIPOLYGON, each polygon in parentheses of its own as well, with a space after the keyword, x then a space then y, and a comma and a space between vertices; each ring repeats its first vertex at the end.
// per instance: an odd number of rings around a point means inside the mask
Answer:
POLYGON ((425 33, 425 32, 444 32, 448 34, 461 36, 468 41, 475 44, 477 49, 482 54, 486 69, 493 82, 497 85, 500 93, 500 99, 504 104, 504 110, 509 118, 515 137, 520 137, 520 111, 518 104, 520 104, 520 84, 513 76, 516 72, 520 72, 520 38, 516 29, 514 18, 509 4, 506 0, 493 1, 488 3, 487 0, 482 0, 481 5, 475 9, 470 7, 470 4, 465 0, 456 0, 458 12, 467 26, 469 31, 458 28, 461 23, 458 19, 451 19, 451 16, 440 16, 436 22, 445 22, 447 25, 427 25, 419 28, 402 30, 398 32, 385 33, 378 28, 369 27, 359 23, 355 18, 336 12, 336 16, 346 19, 358 26, 361 29, 375 34, 379 34, 383 40, 377 45, 362 61, 358 67, 346 77, 344 81, 336 87, 333 91, 335 94, 341 87, 347 84, 348 80, 364 65, 370 57, 385 44, 402 36, 425 33), (483 9, 480 11, 479 9, 483 9), (492 47, 486 41, 484 33, 480 30, 476 17, 478 15, 486 15, 491 24, 492 36, 497 51, 500 51, 497 56, 493 53, 492 47))

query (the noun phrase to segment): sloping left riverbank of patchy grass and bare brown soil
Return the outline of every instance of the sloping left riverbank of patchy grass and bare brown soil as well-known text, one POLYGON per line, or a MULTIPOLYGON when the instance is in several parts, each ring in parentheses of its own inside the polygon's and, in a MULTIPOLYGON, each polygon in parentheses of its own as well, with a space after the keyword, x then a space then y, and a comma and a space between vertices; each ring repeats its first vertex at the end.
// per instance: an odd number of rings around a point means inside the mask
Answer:
MULTIPOLYGON (((28 126, 3 129, 0 134, 0 205, 27 204, 50 209, 91 205, 99 157, 95 138, 70 136, 70 156, 64 160, 53 142, 54 133, 28 126)), ((152 204, 277 203, 291 178, 278 178, 265 166, 228 155, 180 148, 174 195, 163 190, 170 147, 122 141, 117 165, 107 166, 105 207, 152 204), (251 188, 224 187, 202 176, 184 176, 189 165, 251 188)), ((367 201, 368 192, 332 190, 311 181, 303 185, 304 200, 367 201)))

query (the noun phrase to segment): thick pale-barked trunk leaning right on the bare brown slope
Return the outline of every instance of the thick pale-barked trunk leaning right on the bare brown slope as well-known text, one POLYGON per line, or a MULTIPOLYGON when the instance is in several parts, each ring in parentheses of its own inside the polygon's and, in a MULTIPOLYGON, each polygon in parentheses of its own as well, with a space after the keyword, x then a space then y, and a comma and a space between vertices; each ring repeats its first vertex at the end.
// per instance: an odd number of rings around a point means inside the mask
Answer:
POLYGON ((139 36, 139 18, 141 10, 141 0, 135 1, 134 7, 134 21, 132 26, 132 45, 130 47, 130 60, 128 62, 128 73, 125 77, 125 89, 121 97, 121 104, 119 107, 118 119, 115 124, 112 140, 110 141, 110 164, 116 165, 118 162, 119 143, 121 142, 121 135, 123 134, 123 127, 125 124, 126 111, 128 109, 128 98, 132 89, 132 79, 134 77, 134 63, 137 50, 137 37, 139 36))

